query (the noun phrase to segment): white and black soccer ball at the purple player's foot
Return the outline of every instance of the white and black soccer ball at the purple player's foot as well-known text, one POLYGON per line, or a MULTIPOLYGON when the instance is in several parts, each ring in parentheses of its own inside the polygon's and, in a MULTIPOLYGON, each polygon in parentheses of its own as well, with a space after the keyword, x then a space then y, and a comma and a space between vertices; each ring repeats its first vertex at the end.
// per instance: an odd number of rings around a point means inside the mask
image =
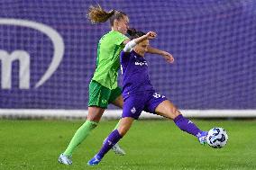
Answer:
POLYGON ((226 145, 228 136, 223 128, 213 128, 208 131, 206 141, 212 148, 223 148, 226 145))

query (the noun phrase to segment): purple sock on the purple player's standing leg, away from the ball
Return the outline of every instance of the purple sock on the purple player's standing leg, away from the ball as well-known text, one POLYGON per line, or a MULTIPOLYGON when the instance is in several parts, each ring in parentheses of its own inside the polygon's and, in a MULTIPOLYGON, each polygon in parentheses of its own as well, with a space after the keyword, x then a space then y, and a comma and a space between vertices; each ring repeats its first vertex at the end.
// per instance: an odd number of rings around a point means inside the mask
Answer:
POLYGON ((119 134, 118 130, 112 131, 107 139, 105 139, 105 143, 103 144, 102 148, 97 153, 97 156, 104 157, 105 154, 123 137, 119 134))

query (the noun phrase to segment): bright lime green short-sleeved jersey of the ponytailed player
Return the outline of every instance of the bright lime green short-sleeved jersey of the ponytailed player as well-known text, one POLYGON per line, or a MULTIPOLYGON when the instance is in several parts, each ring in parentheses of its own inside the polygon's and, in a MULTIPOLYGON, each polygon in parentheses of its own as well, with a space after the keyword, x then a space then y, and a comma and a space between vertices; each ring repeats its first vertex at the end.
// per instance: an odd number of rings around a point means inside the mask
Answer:
POLYGON ((119 31, 109 31, 98 42, 96 72, 93 80, 109 89, 117 87, 117 75, 120 68, 119 55, 124 48, 123 40, 128 37, 119 31))

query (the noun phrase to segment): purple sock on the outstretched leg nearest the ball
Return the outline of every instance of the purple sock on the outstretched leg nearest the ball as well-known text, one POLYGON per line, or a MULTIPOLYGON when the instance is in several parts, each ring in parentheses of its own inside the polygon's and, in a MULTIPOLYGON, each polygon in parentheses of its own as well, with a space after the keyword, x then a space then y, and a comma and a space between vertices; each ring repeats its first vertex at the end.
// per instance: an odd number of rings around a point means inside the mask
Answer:
POLYGON ((173 121, 180 130, 186 131, 187 133, 192 134, 196 137, 198 137, 202 132, 202 130, 199 130, 192 121, 184 118, 182 114, 179 114, 173 121))

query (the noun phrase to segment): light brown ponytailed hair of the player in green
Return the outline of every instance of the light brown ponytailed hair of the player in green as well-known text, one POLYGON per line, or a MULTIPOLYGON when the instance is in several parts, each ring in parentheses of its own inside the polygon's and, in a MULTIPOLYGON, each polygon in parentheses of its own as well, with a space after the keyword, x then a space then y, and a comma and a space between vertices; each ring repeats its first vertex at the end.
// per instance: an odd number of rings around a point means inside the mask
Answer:
POLYGON ((106 12, 99 4, 96 6, 91 5, 87 13, 87 18, 90 20, 90 22, 99 23, 109 20, 111 26, 114 25, 114 20, 120 20, 124 16, 127 16, 127 14, 117 10, 106 12))

